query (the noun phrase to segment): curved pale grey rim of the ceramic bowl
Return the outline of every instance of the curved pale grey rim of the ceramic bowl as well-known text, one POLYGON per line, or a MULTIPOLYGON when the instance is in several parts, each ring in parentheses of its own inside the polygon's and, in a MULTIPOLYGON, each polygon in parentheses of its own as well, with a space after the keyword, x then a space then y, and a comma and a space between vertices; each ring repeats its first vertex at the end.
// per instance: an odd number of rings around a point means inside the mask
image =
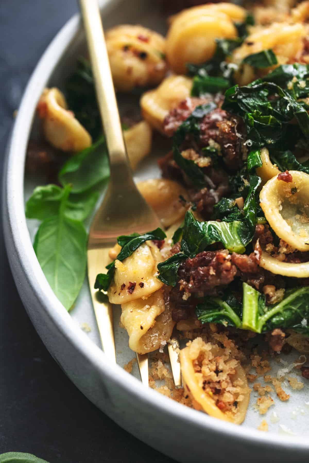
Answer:
MULTIPOLYGON (((112 4, 114 6, 115 2, 120 1, 122 0, 101 0, 102 14, 108 13, 108 9, 112 4)), ((306 442, 306 437, 293 436, 287 439, 279 434, 263 433, 253 428, 246 428, 245 432, 241 426, 214 419, 204 413, 184 407, 151 388, 145 388, 138 379, 128 374, 119 365, 110 364, 107 361, 104 352, 74 323, 50 288, 34 253, 26 225, 24 209, 25 151, 39 96, 52 71, 56 68, 60 58, 65 54, 71 40, 81 27, 80 16, 76 14, 57 33, 32 72, 19 105, 6 154, 6 168, 4 170, 3 214, 7 220, 6 238, 9 236, 9 239, 6 239, 6 249, 8 250, 8 241, 13 244, 25 280, 32 292, 36 294, 41 310, 45 311, 46 316, 57 327, 57 330, 75 347, 79 354, 88 359, 93 368, 101 375, 110 377, 127 394, 131 394, 135 400, 139 400, 145 406, 155 404, 158 412, 168 412, 170 419, 186 420, 188 424, 190 422, 194 423, 199 425, 204 432, 211 429, 212 432, 220 434, 221 438, 226 435, 239 438, 242 442, 247 441, 247 444, 254 441, 255 444, 267 445, 273 448, 279 447, 280 450, 308 452, 309 442, 308 440, 306 442), (22 162, 20 159, 21 151, 23 153, 22 162)), ((19 282, 16 281, 16 283, 18 285, 19 282)))

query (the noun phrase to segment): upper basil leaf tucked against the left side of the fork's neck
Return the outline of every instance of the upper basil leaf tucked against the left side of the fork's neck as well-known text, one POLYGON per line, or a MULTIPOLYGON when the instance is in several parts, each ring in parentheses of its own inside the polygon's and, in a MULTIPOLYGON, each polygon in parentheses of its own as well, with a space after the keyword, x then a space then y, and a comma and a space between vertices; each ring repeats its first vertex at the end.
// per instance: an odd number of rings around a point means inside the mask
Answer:
POLYGON ((64 186, 71 184, 72 193, 83 193, 109 177, 109 163, 105 138, 72 156, 59 172, 64 186))

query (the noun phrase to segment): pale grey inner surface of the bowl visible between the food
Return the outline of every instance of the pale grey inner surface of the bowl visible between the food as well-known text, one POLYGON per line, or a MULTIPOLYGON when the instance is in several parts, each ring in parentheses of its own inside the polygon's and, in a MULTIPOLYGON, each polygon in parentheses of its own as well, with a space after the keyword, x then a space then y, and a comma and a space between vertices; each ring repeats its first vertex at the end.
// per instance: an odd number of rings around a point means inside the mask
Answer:
MULTIPOLYGON (((164 33, 166 31, 166 18, 160 12, 160 8, 157 2, 145 1, 145 0, 136 0, 134 1, 134 8, 132 7, 133 2, 126 2, 117 0, 113 2, 112 5, 108 6, 108 14, 104 15, 103 25, 107 29, 116 24, 130 23, 130 24, 142 24, 148 26, 158 32, 164 33), (121 6, 121 7, 120 7, 121 6)), ((87 48, 84 40, 83 33, 79 31, 72 40, 65 54, 60 59, 56 69, 50 75, 50 78, 47 82, 49 87, 59 87, 63 88, 63 82, 67 76, 72 72, 76 65, 76 60, 78 56, 86 56, 87 48)), ((130 105, 138 105, 139 98, 136 95, 118 95, 120 111, 122 108, 126 108, 130 105)), ((32 125, 32 132, 30 138, 39 137, 39 123, 34 119, 32 125)), ((157 166, 157 159, 159 156, 166 154, 166 147, 162 144, 162 139, 155 137, 154 148, 151 156, 146 158, 143 163, 139 166, 136 174, 134 175, 135 181, 140 181, 146 178, 159 177, 160 172, 157 166)), ((38 178, 38 176, 33 177, 31 175, 25 175, 25 200, 29 198, 32 193, 33 188, 37 185, 44 184, 44 178, 38 178)), ((103 194, 103 192, 102 192, 103 194)), ((91 219, 88 220, 88 223, 91 219)), ((31 240, 38 228, 38 221, 36 220, 27 220, 27 226, 30 233, 31 240)), ((63 308, 63 310, 65 310, 63 308)), ((119 326, 120 320, 120 307, 114 308, 114 327, 115 327, 115 342, 116 342, 116 356, 117 363, 120 366, 124 366, 132 358, 135 357, 134 352, 132 352, 128 347, 128 336, 126 330, 119 326)), ((90 327, 90 330, 87 333, 88 338, 95 343, 98 347, 101 347, 100 337, 98 329, 95 322, 95 316, 92 309, 91 298, 88 290, 88 282, 85 280, 82 291, 79 294, 75 307, 70 311, 71 318, 76 325, 76 329, 82 329, 84 324, 87 324, 90 327)), ((296 351, 293 351, 290 355, 281 357, 284 359, 284 362, 287 364, 292 363, 299 357, 299 354, 296 351)), ((270 374, 275 376, 277 370, 283 368, 285 364, 277 363, 275 360, 271 361, 272 370, 270 374)), ((299 370, 293 370, 291 376, 296 376, 296 373, 299 370)), ((139 378, 139 372, 137 365, 133 366, 132 374, 139 378)), ((299 375, 296 376, 299 378, 299 375)), ((263 377, 258 378, 257 382, 263 384, 263 377)), ((253 383, 252 383, 253 384, 253 383)), ((271 397, 275 401, 275 406, 272 406, 269 411, 261 416, 259 412, 254 407, 259 394, 256 391, 252 391, 251 402, 248 408, 247 416, 243 427, 256 429, 262 419, 266 419, 269 425, 269 430, 272 433, 289 433, 296 434, 297 436, 308 436, 308 427, 306 424, 309 419, 309 407, 306 405, 308 401, 307 388, 305 387, 300 391, 293 391, 290 387, 289 382, 284 381, 283 383, 284 390, 290 394, 290 399, 287 402, 280 401, 275 393, 271 393, 271 397), (279 420, 276 419, 274 413, 276 413, 279 420)), ((248 430, 244 430, 248 432, 248 430)))

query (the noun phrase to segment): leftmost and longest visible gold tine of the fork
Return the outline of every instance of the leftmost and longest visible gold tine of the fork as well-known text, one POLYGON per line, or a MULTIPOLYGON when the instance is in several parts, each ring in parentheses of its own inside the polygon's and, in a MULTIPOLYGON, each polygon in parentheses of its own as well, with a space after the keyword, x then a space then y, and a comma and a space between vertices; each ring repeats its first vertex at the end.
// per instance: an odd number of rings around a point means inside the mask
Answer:
POLYGON ((108 262, 108 249, 88 250, 87 257, 88 281, 95 310, 95 318, 100 332, 101 344, 107 358, 111 362, 116 363, 112 304, 106 300, 107 297, 104 297, 104 294, 100 294, 94 288, 95 278, 99 273, 98 269, 102 269, 102 262, 108 262))

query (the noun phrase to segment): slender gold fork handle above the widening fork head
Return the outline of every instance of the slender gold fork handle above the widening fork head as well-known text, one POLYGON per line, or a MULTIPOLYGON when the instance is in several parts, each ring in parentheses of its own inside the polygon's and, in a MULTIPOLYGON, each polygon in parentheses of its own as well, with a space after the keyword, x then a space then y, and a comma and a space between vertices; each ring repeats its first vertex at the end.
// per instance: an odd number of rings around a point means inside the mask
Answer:
POLYGON ((117 173, 119 175, 119 169, 124 176, 132 177, 121 129, 98 0, 79 0, 79 2, 95 77, 98 105, 107 141, 111 177, 117 173))

